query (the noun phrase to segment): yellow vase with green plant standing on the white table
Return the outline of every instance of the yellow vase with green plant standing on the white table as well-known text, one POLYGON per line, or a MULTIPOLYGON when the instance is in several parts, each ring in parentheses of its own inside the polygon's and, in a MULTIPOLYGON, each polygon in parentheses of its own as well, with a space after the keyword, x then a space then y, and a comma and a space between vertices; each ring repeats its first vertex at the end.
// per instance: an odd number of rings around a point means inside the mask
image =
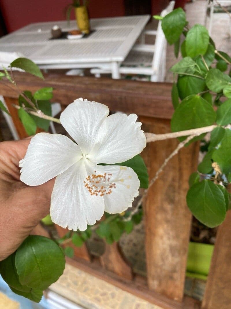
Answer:
POLYGON ((90 32, 90 22, 89 17, 87 13, 87 5, 86 1, 83 0, 82 2, 80 0, 73 0, 72 3, 68 4, 66 7, 66 17, 68 24, 70 23, 70 15, 72 9, 75 9, 75 18, 77 27, 79 30, 81 30, 84 33, 90 32))

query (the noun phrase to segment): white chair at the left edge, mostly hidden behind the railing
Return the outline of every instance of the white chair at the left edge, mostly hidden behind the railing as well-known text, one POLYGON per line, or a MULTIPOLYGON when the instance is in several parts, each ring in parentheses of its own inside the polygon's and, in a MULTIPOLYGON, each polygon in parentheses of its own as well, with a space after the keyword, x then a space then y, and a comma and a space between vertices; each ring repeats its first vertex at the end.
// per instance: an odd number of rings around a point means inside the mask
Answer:
MULTIPOLYGON (((15 59, 19 58, 19 57, 24 57, 24 56, 23 56, 23 54, 17 53, 17 52, 13 52, 13 53, 0 52, 0 70, 3 70, 3 67, 6 70, 9 70, 10 63, 12 61, 14 61, 15 59)), ((12 69, 22 71, 18 68, 12 68, 12 69)), ((6 106, 6 103, 3 99, 3 97, 2 96, 0 96, 0 97, 1 97, 0 99, 1 99, 2 103, 6 106)), ((61 105, 59 103, 52 103, 51 104, 51 115, 52 115, 52 117, 55 117, 59 112, 61 112, 61 105)), ((18 133, 17 133, 17 130, 14 126, 12 118, 9 115, 7 115, 5 112, 2 111, 2 113, 3 113, 3 116, 6 120, 6 123, 7 123, 8 127, 10 129, 10 132, 11 132, 13 138, 15 140, 19 139, 18 133)), ((56 133, 55 126, 54 126, 52 121, 50 122, 50 128, 51 128, 52 133, 56 133)))

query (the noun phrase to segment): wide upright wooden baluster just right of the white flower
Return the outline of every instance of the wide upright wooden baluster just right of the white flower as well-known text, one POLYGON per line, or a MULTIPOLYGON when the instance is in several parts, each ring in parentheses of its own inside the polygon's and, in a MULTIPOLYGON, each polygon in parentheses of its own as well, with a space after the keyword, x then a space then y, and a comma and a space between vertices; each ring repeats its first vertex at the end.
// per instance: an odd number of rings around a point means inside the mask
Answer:
MULTIPOLYGON (((145 132, 170 131, 169 120, 140 117, 145 132)), ((176 139, 148 143, 143 157, 149 177, 177 147, 176 139)), ((199 144, 174 156, 150 189, 145 210, 147 279, 151 290, 181 301, 184 292, 191 213, 186 205, 188 178, 197 170, 199 144)))

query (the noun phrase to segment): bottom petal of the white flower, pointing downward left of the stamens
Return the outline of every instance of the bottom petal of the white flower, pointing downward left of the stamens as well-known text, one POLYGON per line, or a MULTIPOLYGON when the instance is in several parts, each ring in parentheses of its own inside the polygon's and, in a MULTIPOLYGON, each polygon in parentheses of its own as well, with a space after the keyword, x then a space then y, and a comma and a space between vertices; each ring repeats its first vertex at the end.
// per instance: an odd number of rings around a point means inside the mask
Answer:
POLYGON ((51 219, 69 230, 85 231, 95 224, 104 212, 103 197, 92 196, 85 187, 87 171, 84 160, 56 177, 51 195, 51 219))

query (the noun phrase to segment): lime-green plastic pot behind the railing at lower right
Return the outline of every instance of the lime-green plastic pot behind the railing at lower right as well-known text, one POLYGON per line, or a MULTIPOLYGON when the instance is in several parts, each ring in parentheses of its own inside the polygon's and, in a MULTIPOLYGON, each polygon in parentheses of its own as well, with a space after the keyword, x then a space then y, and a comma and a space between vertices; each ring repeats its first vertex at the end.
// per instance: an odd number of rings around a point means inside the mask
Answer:
POLYGON ((187 277, 207 280, 214 245, 190 242, 188 246, 187 277))

